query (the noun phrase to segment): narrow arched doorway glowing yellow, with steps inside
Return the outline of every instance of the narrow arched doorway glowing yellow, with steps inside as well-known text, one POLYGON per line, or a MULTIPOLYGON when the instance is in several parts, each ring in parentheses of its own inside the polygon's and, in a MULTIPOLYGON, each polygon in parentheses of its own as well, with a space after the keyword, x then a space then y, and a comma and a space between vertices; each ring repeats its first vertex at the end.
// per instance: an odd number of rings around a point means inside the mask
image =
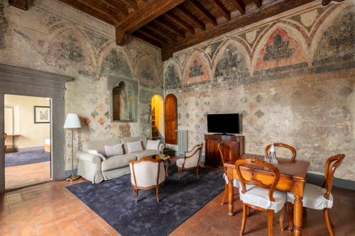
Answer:
POLYGON ((151 98, 151 114, 152 140, 164 142, 164 103, 163 98, 158 94, 151 98))

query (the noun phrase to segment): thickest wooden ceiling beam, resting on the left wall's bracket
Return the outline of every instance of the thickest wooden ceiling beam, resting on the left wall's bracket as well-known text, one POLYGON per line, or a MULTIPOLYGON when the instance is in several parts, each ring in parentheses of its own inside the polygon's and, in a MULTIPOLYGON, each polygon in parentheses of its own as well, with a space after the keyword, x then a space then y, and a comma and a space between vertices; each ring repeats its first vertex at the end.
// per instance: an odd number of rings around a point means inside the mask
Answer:
POLYGON ((146 2, 137 11, 130 14, 124 22, 116 27, 116 44, 124 45, 126 43, 125 35, 131 34, 147 23, 153 21, 163 13, 170 11, 185 0, 151 0, 146 2))

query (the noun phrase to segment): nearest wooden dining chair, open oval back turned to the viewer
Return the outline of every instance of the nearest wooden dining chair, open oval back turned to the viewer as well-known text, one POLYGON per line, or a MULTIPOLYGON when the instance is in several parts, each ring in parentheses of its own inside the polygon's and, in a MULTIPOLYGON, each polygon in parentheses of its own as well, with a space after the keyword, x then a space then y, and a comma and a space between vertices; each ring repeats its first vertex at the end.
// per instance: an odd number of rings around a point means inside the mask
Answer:
POLYGON ((243 218, 241 220, 240 235, 244 234, 246 226, 246 218, 248 216, 249 208, 266 211, 268 213, 268 235, 273 235, 273 213, 280 211, 286 203, 286 193, 275 190, 280 180, 280 172, 278 168, 264 162, 261 159, 239 159, 235 163, 236 174, 241 183, 239 189, 239 196, 243 202, 243 218), (263 179, 258 179, 257 176, 248 176, 248 180, 244 178, 241 173, 241 166, 248 165, 248 167, 257 167, 269 169, 270 175, 273 177, 271 184, 263 184, 263 179))

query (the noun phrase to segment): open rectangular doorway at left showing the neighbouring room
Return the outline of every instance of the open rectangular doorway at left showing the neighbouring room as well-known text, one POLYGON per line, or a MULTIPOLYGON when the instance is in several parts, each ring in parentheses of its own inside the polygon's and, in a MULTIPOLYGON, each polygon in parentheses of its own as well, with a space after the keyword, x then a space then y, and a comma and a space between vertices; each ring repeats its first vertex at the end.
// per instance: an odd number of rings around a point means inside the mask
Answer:
POLYGON ((5 189, 51 180, 51 101, 4 96, 5 189))

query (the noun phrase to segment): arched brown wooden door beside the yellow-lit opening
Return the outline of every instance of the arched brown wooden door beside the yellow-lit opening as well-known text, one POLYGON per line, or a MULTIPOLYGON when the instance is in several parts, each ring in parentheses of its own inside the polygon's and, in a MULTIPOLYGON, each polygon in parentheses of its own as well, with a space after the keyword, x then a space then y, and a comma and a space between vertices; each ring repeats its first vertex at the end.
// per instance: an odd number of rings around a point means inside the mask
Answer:
POLYGON ((176 96, 168 94, 164 101, 165 143, 178 144, 178 113, 176 96))

